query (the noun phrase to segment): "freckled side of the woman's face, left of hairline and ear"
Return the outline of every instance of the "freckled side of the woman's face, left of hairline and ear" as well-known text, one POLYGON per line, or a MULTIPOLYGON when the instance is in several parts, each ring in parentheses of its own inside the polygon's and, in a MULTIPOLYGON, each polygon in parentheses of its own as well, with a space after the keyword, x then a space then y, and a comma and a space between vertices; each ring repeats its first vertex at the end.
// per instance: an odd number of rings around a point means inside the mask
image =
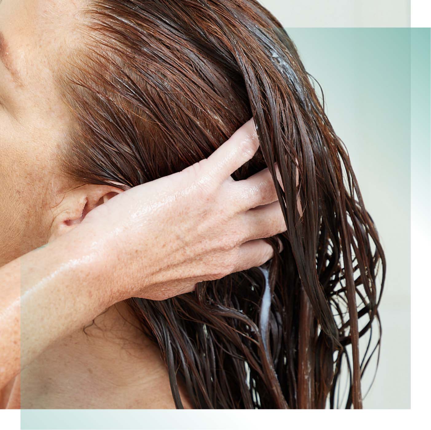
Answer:
POLYGON ((75 9, 69 1, 0 3, 1 52, 16 71, 0 62, 0 265, 47 242, 51 209, 67 185, 54 162, 68 118, 53 65, 75 9))

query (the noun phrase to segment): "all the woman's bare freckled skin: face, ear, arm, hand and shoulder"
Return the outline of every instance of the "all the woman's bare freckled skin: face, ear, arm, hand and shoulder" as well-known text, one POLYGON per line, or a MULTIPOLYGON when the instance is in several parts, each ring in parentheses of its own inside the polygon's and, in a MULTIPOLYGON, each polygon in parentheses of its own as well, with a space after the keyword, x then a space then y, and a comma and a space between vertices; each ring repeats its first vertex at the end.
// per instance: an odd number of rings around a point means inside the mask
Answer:
POLYGON ((23 408, 173 408, 159 351, 122 300, 166 299, 262 264, 273 251, 261 238, 284 219, 269 171, 230 177, 257 150, 253 121, 209 159, 125 192, 62 177, 69 117, 53 76, 79 43, 83 4, 0 3, 0 406, 19 407, 9 398, 21 365, 23 408))

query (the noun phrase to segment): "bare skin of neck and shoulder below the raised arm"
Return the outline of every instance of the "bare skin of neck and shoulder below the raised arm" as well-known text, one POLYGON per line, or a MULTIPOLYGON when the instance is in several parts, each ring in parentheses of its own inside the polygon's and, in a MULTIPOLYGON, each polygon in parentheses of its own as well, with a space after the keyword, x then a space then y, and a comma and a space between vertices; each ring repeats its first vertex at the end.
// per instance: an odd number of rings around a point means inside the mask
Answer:
POLYGON ((25 368, 21 395, 22 408, 175 408, 159 348, 125 302, 25 368))

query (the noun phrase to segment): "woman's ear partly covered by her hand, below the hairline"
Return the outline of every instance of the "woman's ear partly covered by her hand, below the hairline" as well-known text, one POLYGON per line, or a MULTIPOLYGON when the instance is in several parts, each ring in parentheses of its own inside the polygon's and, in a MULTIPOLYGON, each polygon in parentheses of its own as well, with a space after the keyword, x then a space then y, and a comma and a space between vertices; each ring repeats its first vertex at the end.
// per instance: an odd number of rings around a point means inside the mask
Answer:
POLYGON ((88 212, 124 190, 109 185, 82 185, 68 191, 53 209, 54 218, 48 242, 79 225, 88 212))

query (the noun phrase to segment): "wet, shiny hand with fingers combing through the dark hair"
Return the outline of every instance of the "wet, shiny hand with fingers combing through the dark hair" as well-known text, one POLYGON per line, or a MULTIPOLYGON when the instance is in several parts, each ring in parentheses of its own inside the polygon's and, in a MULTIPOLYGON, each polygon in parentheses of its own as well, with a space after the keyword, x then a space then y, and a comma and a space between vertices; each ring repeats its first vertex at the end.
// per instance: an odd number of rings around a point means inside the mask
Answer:
POLYGON ((244 181, 231 177, 258 146, 251 119, 208 159, 87 214, 71 234, 103 259, 114 302, 166 299, 272 258, 262 238, 286 231, 286 224, 269 170, 244 181))

